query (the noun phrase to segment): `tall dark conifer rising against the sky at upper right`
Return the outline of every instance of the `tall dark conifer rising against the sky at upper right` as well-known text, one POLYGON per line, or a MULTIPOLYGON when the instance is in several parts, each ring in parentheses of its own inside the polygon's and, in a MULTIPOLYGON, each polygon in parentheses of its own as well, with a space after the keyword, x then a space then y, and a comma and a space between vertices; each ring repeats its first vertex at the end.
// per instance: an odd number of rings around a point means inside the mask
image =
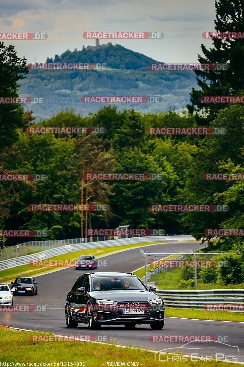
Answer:
MULTIPOLYGON (((244 0, 215 1, 215 29, 218 32, 241 32, 244 29, 244 0)), ((204 95, 239 95, 244 90, 244 43, 243 39, 212 38, 213 48, 209 50, 202 44, 204 56, 198 55, 200 63, 227 63, 229 69, 195 71, 200 90, 192 89, 191 105, 187 105, 190 113, 197 112, 197 120, 208 117, 211 121, 225 103, 201 103, 204 95)), ((206 120, 205 120, 206 121, 206 120)))

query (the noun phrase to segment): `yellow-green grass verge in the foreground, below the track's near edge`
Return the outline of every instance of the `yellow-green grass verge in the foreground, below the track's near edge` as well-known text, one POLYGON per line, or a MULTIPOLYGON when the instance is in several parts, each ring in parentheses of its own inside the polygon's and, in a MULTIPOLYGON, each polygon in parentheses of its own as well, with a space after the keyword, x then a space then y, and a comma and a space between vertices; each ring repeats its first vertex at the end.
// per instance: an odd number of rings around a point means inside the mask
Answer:
MULTIPOLYGON (((10 363, 52 363, 50 366, 108 366, 108 362, 122 362, 117 364, 127 366, 128 362, 135 362, 134 366, 160 366, 162 362, 154 359, 153 352, 142 349, 118 348, 111 344, 93 344, 89 342, 33 342, 32 335, 52 335, 48 333, 30 333, 28 331, 11 331, 0 327, 0 362, 10 363), (10 352, 11 345, 11 352, 10 352), (66 362, 66 365, 65 365, 66 362), (72 364, 71 364, 72 363, 72 364), (74 364, 75 363, 75 364, 74 364)), ((116 365, 116 364, 110 364, 116 365)), ((198 366, 226 367, 224 362, 199 361, 198 366)), ((6 366, 6 365, 5 365, 6 366)), ((7 367, 8 367, 7 366, 7 367)), ((164 362, 166 367, 180 367, 180 361, 164 362)), ((196 362, 187 359, 187 366, 196 366, 196 362)))

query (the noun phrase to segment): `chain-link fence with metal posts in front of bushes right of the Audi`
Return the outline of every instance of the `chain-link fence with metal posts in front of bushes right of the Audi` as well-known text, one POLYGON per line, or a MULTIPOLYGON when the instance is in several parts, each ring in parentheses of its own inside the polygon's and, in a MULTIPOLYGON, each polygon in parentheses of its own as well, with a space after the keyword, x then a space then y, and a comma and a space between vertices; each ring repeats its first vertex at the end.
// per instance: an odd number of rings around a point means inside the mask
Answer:
POLYGON ((152 253, 140 250, 145 259, 147 285, 164 290, 194 290, 215 288, 219 274, 233 266, 228 260, 233 252, 152 253))

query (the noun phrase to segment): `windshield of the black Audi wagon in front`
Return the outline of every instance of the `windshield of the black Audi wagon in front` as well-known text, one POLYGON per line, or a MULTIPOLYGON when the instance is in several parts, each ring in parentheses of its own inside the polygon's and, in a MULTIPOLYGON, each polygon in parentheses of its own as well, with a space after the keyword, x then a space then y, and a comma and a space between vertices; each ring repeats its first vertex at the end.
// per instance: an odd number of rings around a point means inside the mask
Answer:
POLYGON ((95 291, 145 291, 146 288, 134 276, 92 277, 92 290, 95 291))

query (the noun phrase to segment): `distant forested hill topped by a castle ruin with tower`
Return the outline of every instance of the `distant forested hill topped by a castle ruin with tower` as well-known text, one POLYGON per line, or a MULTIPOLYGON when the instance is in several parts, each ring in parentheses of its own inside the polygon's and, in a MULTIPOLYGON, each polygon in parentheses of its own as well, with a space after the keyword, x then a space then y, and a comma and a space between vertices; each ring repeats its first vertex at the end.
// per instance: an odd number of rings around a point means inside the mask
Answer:
POLYGON ((141 112, 184 108, 189 92, 196 87, 190 71, 152 71, 148 65, 157 61, 120 45, 108 45, 65 51, 47 62, 105 63, 106 70, 30 70, 21 83, 19 94, 44 97, 44 104, 26 105, 37 120, 56 114, 61 108, 73 108, 86 115, 96 112, 103 103, 82 103, 84 95, 160 96, 160 103, 120 103, 119 110, 132 108, 141 112))

